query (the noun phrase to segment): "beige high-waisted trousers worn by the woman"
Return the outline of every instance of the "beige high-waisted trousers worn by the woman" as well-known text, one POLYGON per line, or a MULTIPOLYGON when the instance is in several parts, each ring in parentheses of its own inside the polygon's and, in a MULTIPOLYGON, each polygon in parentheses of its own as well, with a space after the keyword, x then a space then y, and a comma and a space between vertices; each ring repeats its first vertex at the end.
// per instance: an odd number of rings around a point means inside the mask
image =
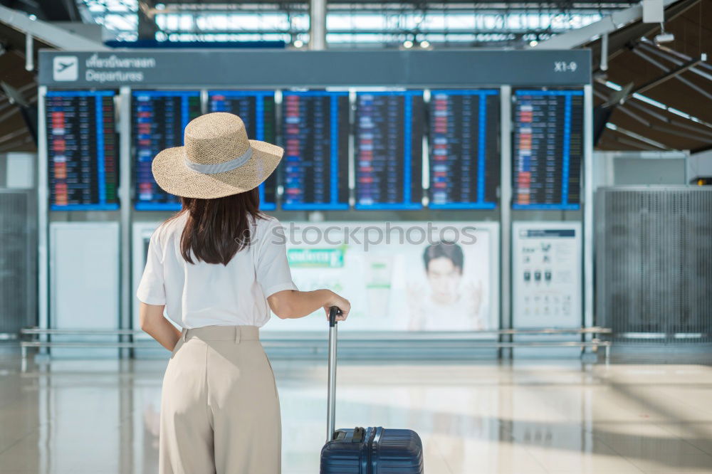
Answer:
POLYGON ((274 374, 255 326, 183 330, 163 378, 160 474, 280 474, 274 374))

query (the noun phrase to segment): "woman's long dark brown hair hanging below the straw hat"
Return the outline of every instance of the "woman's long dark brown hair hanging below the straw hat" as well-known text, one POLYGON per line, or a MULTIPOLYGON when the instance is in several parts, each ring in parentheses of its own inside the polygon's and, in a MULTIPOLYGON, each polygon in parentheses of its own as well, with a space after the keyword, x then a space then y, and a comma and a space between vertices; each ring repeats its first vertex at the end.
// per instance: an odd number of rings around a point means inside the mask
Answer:
POLYGON ((257 189, 216 199, 181 198, 187 221, 180 239, 181 255, 206 263, 227 265, 251 243, 253 221, 264 218, 257 189))

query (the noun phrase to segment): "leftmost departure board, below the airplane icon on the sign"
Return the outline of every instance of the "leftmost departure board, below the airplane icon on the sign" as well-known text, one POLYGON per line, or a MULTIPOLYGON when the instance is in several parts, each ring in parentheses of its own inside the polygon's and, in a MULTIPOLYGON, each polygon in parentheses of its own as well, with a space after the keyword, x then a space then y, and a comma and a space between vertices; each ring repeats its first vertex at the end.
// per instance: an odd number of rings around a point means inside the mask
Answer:
POLYGON ((51 91, 45 97, 50 209, 118 209, 115 93, 51 91))

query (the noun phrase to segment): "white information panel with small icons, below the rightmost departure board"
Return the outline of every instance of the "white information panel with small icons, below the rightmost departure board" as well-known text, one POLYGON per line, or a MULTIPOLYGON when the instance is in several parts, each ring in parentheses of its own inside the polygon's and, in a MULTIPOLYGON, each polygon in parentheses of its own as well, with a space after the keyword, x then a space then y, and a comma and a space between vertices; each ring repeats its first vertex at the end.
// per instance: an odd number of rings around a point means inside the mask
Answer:
POLYGON ((512 223, 513 325, 581 327, 581 223, 512 223))

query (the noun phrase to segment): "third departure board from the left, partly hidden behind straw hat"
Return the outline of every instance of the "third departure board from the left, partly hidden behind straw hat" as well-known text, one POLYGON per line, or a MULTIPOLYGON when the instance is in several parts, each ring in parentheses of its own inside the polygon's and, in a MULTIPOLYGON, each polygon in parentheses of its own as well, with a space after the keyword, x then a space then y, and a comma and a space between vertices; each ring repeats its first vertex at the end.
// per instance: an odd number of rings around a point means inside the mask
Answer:
MULTIPOLYGON (((273 90, 211 90, 208 112, 239 115, 249 139, 276 144, 277 118, 273 90)), ((259 187, 260 209, 276 208, 277 174, 272 173, 259 187)))

